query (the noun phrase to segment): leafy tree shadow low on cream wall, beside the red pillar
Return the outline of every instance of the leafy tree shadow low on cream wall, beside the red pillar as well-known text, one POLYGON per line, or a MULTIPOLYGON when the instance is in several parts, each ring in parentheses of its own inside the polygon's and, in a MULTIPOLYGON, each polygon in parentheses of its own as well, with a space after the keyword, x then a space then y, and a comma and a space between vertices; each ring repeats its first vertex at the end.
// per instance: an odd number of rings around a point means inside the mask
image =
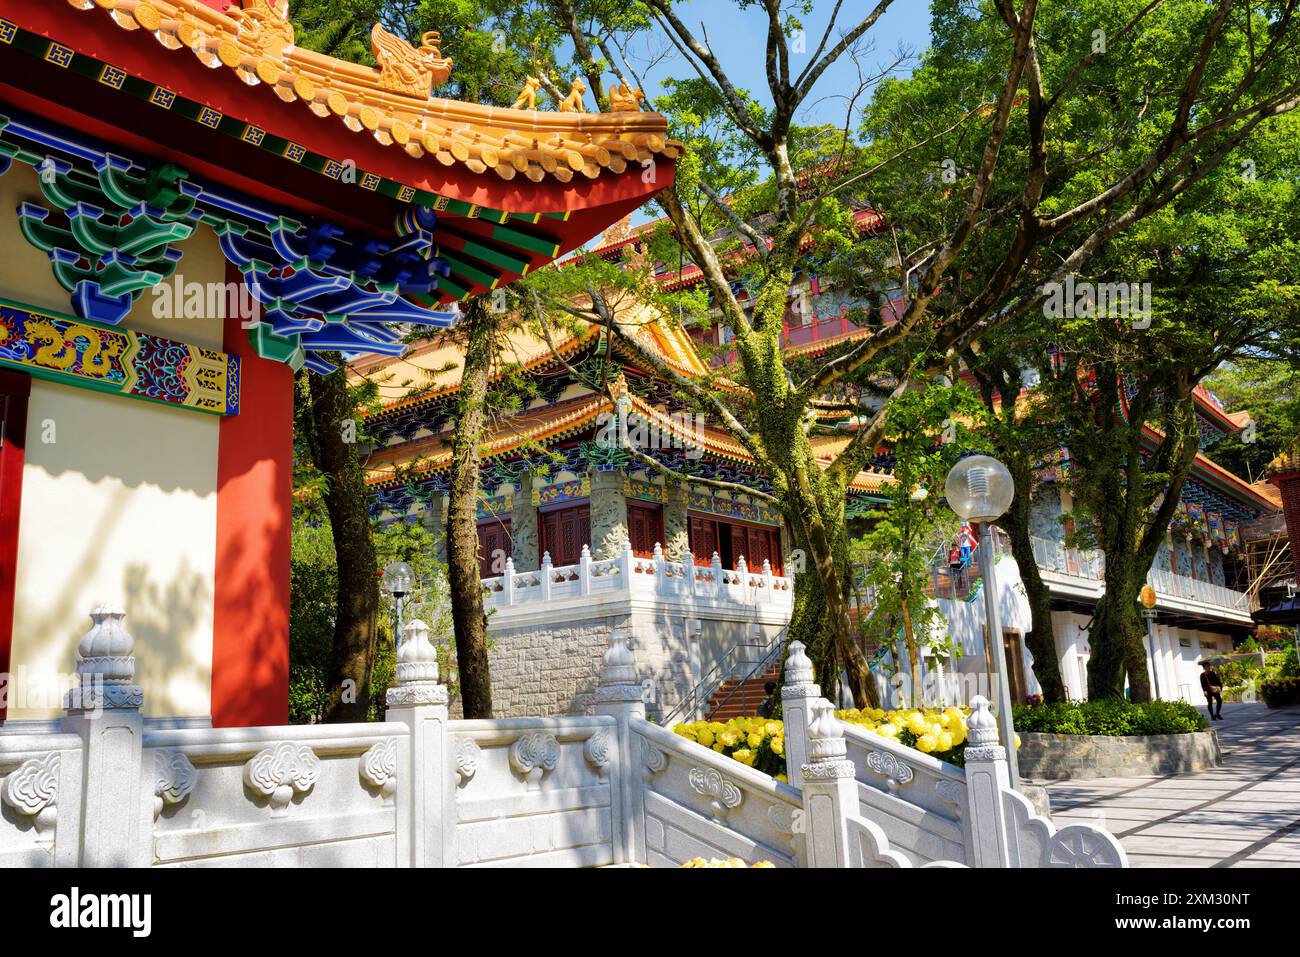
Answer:
POLYGON ((212 683, 208 633, 212 589, 204 575, 181 562, 170 581, 150 579, 143 563, 122 575, 126 629, 135 638, 135 680, 146 714, 205 716, 195 707, 212 683))

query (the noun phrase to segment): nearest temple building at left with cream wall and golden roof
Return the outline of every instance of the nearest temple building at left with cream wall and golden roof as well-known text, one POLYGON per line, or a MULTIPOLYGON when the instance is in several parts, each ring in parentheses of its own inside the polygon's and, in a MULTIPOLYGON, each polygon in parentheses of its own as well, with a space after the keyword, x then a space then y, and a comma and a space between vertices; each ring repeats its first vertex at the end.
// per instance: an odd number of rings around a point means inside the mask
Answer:
POLYGON ((151 720, 282 724, 295 372, 400 356, 672 182, 655 113, 441 99, 432 35, 294 39, 287 0, 0 0, 6 729, 61 713, 99 601, 151 720))

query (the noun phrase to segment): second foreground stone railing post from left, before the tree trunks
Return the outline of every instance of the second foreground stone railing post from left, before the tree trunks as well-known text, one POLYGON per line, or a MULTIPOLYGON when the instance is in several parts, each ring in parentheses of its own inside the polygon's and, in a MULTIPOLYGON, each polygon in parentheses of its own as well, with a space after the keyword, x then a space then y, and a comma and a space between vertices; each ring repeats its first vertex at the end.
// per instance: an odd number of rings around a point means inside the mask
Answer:
POLYGON ((429 625, 412 619, 402 629, 398 684, 389 688, 385 720, 410 728, 410 771, 398 768, 398 866, 455 863, 456 775, 450 767, 447 688, 438 683, 438 653, 429 625))

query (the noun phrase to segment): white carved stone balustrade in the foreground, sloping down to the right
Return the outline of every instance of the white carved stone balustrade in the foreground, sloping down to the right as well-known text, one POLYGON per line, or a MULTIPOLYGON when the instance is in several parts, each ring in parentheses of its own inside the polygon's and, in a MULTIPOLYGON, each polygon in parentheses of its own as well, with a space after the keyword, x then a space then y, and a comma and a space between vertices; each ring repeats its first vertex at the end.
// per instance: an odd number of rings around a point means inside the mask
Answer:
POLYGON ((1126 866, 1105 831, 1057 831, 1010 789, 987 701, 966 771, 936 768, 842 726, 798 642, 783 693, 794 784, 649 723, 618 629, 592 716, 450 720, 413 620, 384 722, 162 729, 140 715, 125 615, 92 619, 62 731, 0 733, 0 865, 1126 866))

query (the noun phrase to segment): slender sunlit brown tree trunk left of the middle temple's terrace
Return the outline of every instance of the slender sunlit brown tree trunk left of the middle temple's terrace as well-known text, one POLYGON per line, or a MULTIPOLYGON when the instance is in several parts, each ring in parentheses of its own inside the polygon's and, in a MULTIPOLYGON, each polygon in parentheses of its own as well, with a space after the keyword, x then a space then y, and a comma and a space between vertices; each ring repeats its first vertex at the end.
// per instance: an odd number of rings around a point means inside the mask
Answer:
POLYGON ((456 672, 465 718, 491 718, 488 616, 478 577, 478 463, 488 421, 493 321, 481 298, 462 306, 465 358, 456 395, 456 434, 451 443, 447 508, 447 581, 456 635, 456 672))

